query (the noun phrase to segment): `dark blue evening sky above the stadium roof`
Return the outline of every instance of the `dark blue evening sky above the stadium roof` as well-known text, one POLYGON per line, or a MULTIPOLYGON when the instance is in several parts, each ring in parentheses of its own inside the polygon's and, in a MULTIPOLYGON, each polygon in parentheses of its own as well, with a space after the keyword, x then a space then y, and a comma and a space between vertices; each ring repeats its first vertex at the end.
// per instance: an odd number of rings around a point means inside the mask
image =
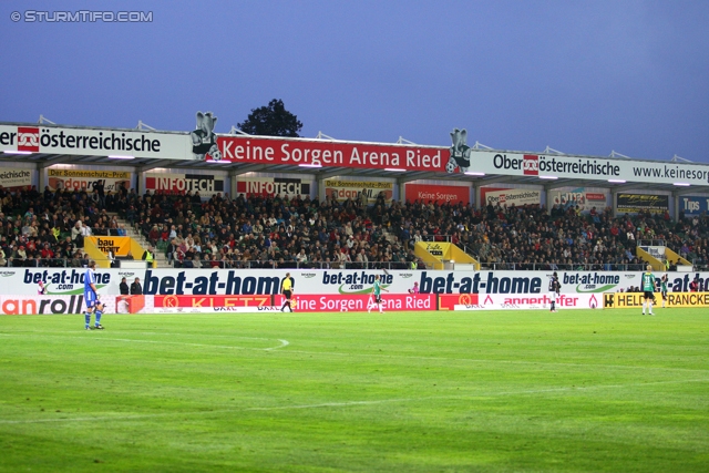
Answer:
POLYGON ((226 133, 282 99, 342 140, 709 162, 707 1, 3 1, 0 121, 226 133), (198 6, 198 7, 196 7, 198 6), (99 8, 100 7, 100 8, 99 8), (25 10, 151 23, 13 22, 25 10))

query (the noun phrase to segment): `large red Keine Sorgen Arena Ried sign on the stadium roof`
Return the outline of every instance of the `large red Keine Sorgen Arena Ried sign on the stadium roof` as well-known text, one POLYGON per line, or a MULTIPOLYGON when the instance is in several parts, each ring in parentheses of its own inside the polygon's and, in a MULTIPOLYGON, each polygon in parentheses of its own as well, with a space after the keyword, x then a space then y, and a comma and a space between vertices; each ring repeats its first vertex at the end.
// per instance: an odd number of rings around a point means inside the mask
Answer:
POLYGON ((217 146, 220 161, 246 164, 444 172, 443 166, 449 160, 444 147, 282 137, 217 136, 217 146))

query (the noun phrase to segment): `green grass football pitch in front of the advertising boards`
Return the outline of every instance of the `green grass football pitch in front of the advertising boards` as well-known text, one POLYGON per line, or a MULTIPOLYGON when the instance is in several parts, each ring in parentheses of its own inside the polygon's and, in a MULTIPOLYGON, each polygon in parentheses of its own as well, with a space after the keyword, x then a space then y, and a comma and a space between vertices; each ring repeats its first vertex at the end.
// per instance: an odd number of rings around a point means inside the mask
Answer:
POLYGON ((0 317, 0 471, 709 471, 706 309, 0 317))

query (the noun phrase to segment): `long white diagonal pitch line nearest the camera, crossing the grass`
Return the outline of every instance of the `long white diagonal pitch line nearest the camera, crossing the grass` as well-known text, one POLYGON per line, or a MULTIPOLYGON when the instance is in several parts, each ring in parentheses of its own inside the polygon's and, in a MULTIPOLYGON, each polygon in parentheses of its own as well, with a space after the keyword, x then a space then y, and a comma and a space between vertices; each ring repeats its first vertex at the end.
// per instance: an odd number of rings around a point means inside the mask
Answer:
POLYGON ((690 383, 690 382, 709 382, 709 379, 650 381, 650 382, 638 382, 638 383, 628 383, 628 384, 598 384, 598 385, 587 385, 587 387, 530 389, 530 390, 501 391, 501 392, 477 392, 477 393, 470 393, 470 394, 428 395, 428 397, 421 397, 421 398, 393 398, 393 399, 380 399, 380 400, 372 400, 372 401, 320 402, 315 404, 218 409, 213 411, 194 411, 194 412, 165 412, 160 414, 135 414, 135 415, 122 415, 122 417, 104 415, 104 417, 94 417, 94 418, 59 418, 59 419, 34 419, 34 420, 1 420, 0 419, 0 425, 52 423, 52 422, 131 421, 131 420, 155 419, 155 418, 166 418, 166 417, 185 417, 185 415, 208 417, 214 414, 224 414, 224 413, 233 413, 233 412, 259 412, 259 411, 263 412, 263 411, 282 411, 282 410, 299 410, 299 409, 351 408, 351 407, 358 407, 358 405, 377 405, 377 404, 397 403, 397 402, 417 402, 417 401, 430 401, 430 400, 465 400, 465 399, 495 398, 495 397, 500 398, 505 395, 545 394, 545 393, 553 393, 553 392, 564 393, 564 392, 588 391, 594 389, 641 388, 646 385, 680 384, 680 383, 690 383))

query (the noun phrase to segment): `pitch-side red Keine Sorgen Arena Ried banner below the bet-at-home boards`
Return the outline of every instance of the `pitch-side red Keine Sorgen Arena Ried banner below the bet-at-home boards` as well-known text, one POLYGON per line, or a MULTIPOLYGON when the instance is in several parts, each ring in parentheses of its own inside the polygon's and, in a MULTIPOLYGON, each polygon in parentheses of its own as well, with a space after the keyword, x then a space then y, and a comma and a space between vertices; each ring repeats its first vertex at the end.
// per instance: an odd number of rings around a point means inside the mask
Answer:
MULTIPOLYGON (((384 310, 435 310, 435 294, 382 294, 384 310)), ((373 306, 372 295, 296 295, 296 311, 300 312, 363 312, 373 306)), ((275 306, 282 306, 284 296, 275 296, 275 306)))

